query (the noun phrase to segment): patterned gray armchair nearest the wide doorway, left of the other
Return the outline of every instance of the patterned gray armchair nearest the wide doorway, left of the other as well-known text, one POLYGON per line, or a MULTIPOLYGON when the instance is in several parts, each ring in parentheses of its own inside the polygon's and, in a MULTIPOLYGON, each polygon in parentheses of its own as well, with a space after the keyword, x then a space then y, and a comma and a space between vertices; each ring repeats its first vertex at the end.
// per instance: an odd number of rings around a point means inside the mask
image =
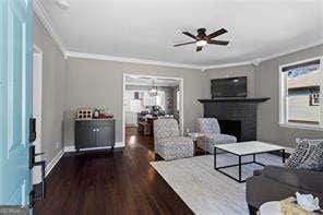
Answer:
POLYGON ((165 160, 192 157, 194 143, 191 138, 180 136, 178 122, 175 119, 154 121, 155 153, 165 160))

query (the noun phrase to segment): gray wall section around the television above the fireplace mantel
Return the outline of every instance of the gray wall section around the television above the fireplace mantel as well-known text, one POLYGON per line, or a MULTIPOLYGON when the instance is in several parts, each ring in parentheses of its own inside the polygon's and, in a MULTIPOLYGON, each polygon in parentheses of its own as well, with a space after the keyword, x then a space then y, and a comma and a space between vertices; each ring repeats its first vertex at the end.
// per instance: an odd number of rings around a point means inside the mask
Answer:
POLYGON ((254 97, 254 67, 253 65, 238 65, 229 68, 218 68, 206 70, 206 81, 204 84, 204 97, 211 98, 211 81, 213 79, 232 77, 232 76, 247 76, 248 97, 254 97))

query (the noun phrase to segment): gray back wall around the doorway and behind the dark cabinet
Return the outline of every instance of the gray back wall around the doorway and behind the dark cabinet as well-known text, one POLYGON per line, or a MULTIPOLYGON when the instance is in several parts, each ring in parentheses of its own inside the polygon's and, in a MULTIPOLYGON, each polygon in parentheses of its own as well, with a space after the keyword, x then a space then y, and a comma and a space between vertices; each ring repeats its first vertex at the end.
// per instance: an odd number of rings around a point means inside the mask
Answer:
POLYGON ((74 145, 73 118, 79 107, 104 105, 116 117, 116 141, 122 141, 123 73, 183 77, 184 128, 193 130, 203 115, 198 98, 203 96, 203 73, 200 70, 69 58, 64 143, 74 145))

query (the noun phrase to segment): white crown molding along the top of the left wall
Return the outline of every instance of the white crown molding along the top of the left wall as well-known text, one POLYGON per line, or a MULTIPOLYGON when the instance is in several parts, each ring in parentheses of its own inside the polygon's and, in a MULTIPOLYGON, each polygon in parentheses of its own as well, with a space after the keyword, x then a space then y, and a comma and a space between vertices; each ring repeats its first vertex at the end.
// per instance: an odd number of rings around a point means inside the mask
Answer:
POLYGON ((44 7, 41 5, 40 0, 33 1, 33 9, 34 9, 34 12, 37 15, 37 17, 40 20, 41 24, 45 26, 45 28, 47 29, 47 32, 49 33, 51 38, 55 40, 55 43, 59 47, 60 51, 64 56, 64 59, 67 59, 65 46, 64 46, 62 39, 60 38, 60 36, 56 33, 52 22, 49 17, 48 13, 46 12, 44 7))

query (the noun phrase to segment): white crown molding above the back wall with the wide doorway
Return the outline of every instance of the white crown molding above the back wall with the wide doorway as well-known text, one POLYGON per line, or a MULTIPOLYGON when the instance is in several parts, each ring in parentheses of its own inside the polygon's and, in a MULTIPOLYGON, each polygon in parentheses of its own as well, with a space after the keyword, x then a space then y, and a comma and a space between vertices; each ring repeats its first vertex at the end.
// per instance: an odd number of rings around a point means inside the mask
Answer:
POLYGON ((116 57, 116 56, 85 53, 85 52, 75 52, 75 51, 67 51, 65 53, 67 53, 67 57, 71 57, 71 58, 85 58, 85 59, 107 60, 107 61, 117 61, 117 62, 130 62, 130 63, 162 65, 162 67, 170 67, 170 68, 193 69, 193 70, 203 69, 202 65, 198 65, 198 64, 165 62, 165 61, 145 60, 145 59, 139 59, 139 58, 123 58, 123 57, 116 57))

